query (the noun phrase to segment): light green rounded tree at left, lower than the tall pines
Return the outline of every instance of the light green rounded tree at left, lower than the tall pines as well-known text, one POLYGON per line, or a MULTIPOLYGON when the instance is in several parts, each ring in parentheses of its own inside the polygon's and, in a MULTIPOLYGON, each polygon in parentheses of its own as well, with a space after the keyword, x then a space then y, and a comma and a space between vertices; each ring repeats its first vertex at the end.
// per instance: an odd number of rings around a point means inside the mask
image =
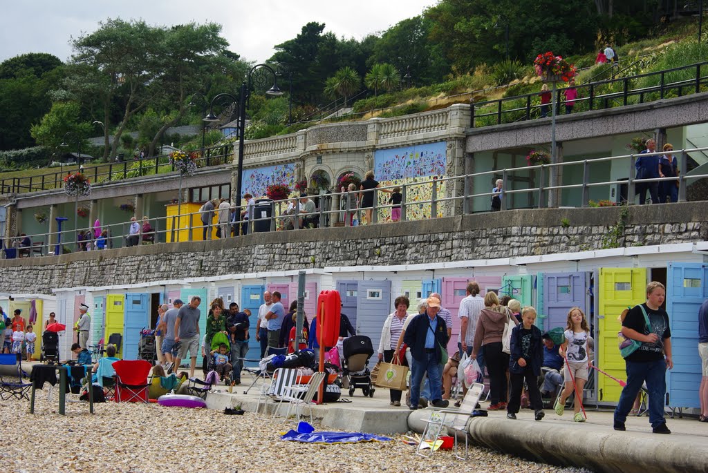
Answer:
MULTIPOLYGON (((38 124, 33 125, 30 130, 32 137, 37 141, 37 144, 50 149, 59 147, 64 141, 64 135, 67 132, 74 132, 82 139, 89 136, 91 124, 81 122, 81 106, 76 102, 55 102, 52 104, 52 109, 42 117, 38 124)), ((67 151, 74 151, 76 146, 74 141, 69 143, 67 151)), ((86 149, 82 142, 81 147, 86 149)))

